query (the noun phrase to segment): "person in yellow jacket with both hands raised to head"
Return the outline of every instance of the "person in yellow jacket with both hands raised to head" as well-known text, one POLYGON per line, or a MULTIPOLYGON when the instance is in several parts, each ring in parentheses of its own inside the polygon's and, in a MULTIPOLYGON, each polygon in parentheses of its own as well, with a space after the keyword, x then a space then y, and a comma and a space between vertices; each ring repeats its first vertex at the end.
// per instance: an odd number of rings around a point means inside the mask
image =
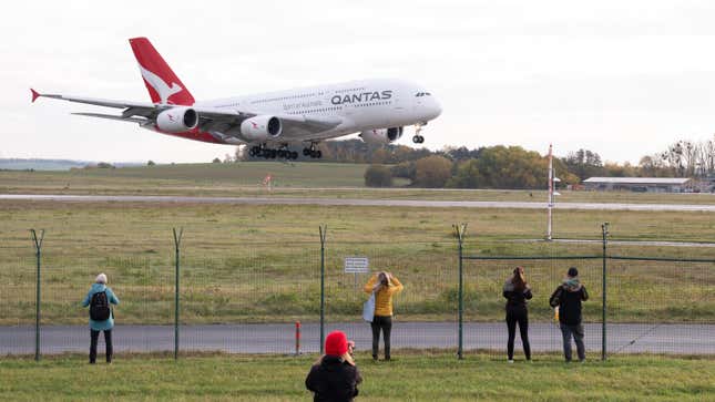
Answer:
POLYGON ((390 272, 377 272, 365 285, 365 292, 375 292, 372 327, 372 360, 377 360, 380 330, 385 339, 385 360, 390 360, 390 331, 392 330, 392 295, 402 290, 402 284, 390 272))

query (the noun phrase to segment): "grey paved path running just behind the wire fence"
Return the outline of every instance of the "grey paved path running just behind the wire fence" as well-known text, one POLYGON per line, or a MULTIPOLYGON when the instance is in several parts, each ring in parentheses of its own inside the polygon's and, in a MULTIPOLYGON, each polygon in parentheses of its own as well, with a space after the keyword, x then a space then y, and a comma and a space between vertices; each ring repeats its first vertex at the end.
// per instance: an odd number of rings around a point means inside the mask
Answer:
MULTIPOLYGON (((326 333, 340 329, 357 342, 358 350, 369 350, 370 329, 364 322, 331 323, 326 333)), ((231 353, 293 353, 295 326, 208 324, 183 326, 180 329, 181 350, 224 351, 231 353)), ((600 353, 601 324, 586 324, 586 349, 600 353)), ((561 332, 552 323, 532 323, 529 329, 532 350, 560 351, 561 332)), ((102 337, 100 337, 102 338, 102 337)), ((116 326, 113 331, 115 351, 170 351, 174 348, 172 326, 116 326)), ((85 326, 42 327, 42 353, 85 352, 89 348, 85 326)), ((102 344, 103 340, 100 341, 102 344)), ((319 326, 306 323, 302 329, 303 352, 317 352, 319 326)), ((466 323, 466 350, 489 349, 501 352, 507 344, 504 323, 466 323)), ((456 322, 395 322, 392 348, 457 350, 456 322)), ((517 337, 517 348, 521 341, 517 337)), ((620 352, 653 352, 682 354, 715 354, 715 324, 610 324, 607 350, 620 352), (631 343, 634 339, 635 342, 631 343)), ((0 327, 0 355, 34 353, 34 327, 0 327)))

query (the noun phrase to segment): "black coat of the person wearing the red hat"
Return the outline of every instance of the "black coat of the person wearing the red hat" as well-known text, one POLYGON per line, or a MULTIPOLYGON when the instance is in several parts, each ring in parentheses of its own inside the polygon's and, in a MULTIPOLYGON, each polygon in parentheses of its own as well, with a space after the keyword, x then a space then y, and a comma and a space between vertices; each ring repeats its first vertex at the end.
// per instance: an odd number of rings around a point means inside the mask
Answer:
POLYGON ((357 367, 338 357, 326 355, 310 368, 305 386, 314 392, 316 402, 347 402, 357 396, 360 382, 362 378, 357 367))

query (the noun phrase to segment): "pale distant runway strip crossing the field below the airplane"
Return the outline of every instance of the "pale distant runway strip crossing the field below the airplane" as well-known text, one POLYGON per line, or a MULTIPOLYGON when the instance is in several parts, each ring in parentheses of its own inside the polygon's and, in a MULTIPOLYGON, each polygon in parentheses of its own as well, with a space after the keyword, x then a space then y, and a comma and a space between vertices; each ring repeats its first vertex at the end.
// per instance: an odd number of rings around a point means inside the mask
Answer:
MULTIPOLYGON (((319 205, 416 208, 505 208, 545 209, 544 203, 527 202, 457 202, 419 199, 357 199, 357 198, 297 198, 297 197, 187 197, 136 195, 35 195, 0 194, 0 200, 40 200, 55 203, 182 203, 182 204, 244 204, 244 205, 319 205)), ((715 213, 715 205, 694 204, 623 204, 623 203, 559 203, 555 209, 645 210, 645 212, 706 212, 715 213)))

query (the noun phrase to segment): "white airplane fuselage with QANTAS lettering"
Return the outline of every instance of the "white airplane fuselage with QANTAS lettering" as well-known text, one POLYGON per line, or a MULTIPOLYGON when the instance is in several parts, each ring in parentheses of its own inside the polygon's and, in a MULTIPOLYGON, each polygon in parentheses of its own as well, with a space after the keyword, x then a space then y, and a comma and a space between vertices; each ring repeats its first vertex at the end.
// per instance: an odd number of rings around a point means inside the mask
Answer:
MULTIPOLYGON (((227 109, 258 115, 307 118, 314 116, 328 120, 339 117, 339 125, 311 133, 310 140, 333 138, 375 128, 426 124, 441 113, 441 106, 429 92, 402 80, 351 81, 197 102, 195 106, 227 109)), ((237 127, 224 134, 242 138, 237 127)), ((285 140, 276 138, 270 142, 280 143, 285 140)), ((242 142, 251 143, 245 140, 242 142)))

